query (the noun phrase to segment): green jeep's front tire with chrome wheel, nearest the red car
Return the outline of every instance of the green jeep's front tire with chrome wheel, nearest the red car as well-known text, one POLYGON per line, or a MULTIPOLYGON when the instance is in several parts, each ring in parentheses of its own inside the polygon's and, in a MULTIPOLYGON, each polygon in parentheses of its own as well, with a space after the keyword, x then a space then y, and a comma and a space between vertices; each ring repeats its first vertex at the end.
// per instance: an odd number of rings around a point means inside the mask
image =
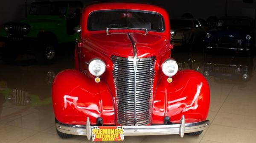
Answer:
POLYGON ((39 39, 38 49, 35 51, 35 58, 41 64, 52 64, 56 59, 57 43, 49 39, 39 39))

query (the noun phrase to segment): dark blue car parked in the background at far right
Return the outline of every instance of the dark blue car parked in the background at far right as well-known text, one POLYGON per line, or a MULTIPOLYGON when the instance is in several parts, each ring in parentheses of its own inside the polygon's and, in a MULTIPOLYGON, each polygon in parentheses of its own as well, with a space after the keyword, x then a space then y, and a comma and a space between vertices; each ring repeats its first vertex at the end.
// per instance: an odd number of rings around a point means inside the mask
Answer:
POLYGON ((215 29, 207 31, 206 49, 255 50, 255 21, 249 17, 221 17, 215 29))

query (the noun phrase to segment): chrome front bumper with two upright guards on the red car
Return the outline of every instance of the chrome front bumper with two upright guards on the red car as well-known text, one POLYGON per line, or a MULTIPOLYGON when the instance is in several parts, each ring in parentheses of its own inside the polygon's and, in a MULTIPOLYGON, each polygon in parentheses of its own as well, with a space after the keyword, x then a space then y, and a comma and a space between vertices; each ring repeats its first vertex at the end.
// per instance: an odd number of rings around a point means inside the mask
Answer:
MULTIPOLYGON (((87 139, 91 137, 90 119, 87 118, 87 126, 81 125, 68 125, 63 123, 56 123, 56 129, 71 135, 86 135, 87 139)), ((184 133, 198 132, 204 130, 209 125, 209 120, 197 123, 185 123, 185 117, 182 116, 180 124, 172 125, 152 125, 152 126, 122 126, 124 128, 125 136, 138 136, 138 135, 175 135, 179 134, 180 137, 184 133)))

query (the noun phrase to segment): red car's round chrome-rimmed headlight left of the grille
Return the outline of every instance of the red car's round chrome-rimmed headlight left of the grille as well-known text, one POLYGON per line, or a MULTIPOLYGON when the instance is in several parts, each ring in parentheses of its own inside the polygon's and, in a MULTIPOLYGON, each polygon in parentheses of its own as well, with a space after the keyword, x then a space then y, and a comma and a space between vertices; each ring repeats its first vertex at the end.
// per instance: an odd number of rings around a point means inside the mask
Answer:
POLYGON ((101 76, 106 70, 106 64, 101 59, 93 59, 88 68, 93 76, 101 76))

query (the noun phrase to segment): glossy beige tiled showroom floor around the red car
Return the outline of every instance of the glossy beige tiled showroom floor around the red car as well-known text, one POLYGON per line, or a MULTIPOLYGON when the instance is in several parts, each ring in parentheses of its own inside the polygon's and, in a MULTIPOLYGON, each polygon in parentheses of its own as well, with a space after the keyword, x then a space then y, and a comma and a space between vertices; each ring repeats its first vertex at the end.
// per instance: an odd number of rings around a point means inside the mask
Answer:
MULTIPOLYGON (((39 65, 29 55, 20 56, 14 64, 0 62, 0 143, 91 142, 85 136, 64 140, 56 134, 51 81, 59 71, 73 68, 73 51, 59 56, 48 66, 39 65)), ((200 136, 129 136, 124 142, 255 143, 255 57, 181 51, 173 56, 181 69, 198 70, 207 76, 211 90, 209 127, 200 136)))

